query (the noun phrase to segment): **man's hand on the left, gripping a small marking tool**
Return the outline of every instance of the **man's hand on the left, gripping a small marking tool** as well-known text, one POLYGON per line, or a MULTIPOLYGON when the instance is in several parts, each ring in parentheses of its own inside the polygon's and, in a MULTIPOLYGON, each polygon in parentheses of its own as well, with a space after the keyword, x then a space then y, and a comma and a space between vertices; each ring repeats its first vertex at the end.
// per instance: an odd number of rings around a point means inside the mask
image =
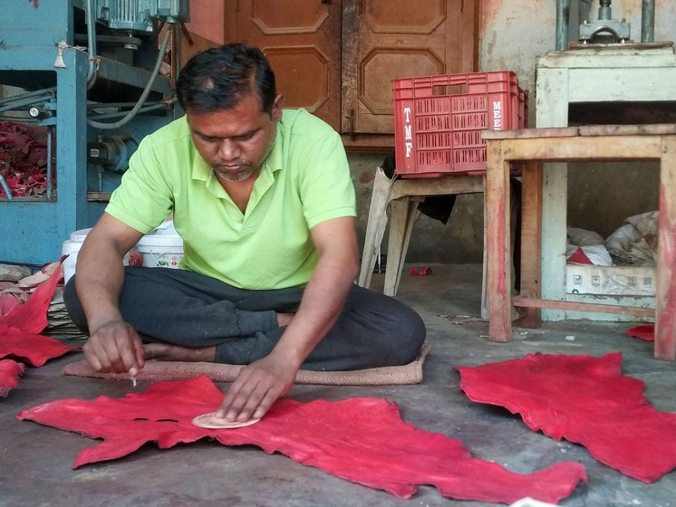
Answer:
POLYGON ((143 368, 143 344, 136 331, 124 320, 111 320, 94 330, 82 347, 90 366, 103 373, 131 376, 143 368))

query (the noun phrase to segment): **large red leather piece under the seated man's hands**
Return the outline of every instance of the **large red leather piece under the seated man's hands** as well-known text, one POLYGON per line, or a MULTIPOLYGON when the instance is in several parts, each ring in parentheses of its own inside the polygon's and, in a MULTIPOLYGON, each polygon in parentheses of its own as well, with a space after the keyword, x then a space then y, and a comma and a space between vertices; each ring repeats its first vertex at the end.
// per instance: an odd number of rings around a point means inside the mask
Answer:
POLYGON ((257 445, 267 454, 279 452, 401 498, 410 498, 419 484, 433 484, 444 496, 460 500, 510 503, 530 496, 557 502, 586 481, 581 464, 515 474, 473 458, 459 440, 403 422, 398 407, 385 399, 304 404, 283 398, 253 426, 207 429, 191 423, 222 400, 211 380, 198 377, 159 382, 120 399, 57 400, 24 410, 18 418, 103 439, 78 454, 73 468, 120 458, 146 442, 168 448, 211 438, 224 445, 257 445))

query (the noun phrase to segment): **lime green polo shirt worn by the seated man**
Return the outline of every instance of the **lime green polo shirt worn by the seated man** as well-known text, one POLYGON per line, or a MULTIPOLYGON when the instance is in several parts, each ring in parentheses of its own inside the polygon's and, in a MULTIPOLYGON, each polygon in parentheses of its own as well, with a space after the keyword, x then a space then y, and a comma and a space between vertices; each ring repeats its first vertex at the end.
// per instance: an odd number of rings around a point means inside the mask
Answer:
POLYGON ((185 117, 140 142, 106 212, 143 234, 173 212, 181 268, 266 290, 307 283, 318 261, 310 229, 356 207, 340 136, 305 110, 285 110, 246 213, 198 154, 185 117))

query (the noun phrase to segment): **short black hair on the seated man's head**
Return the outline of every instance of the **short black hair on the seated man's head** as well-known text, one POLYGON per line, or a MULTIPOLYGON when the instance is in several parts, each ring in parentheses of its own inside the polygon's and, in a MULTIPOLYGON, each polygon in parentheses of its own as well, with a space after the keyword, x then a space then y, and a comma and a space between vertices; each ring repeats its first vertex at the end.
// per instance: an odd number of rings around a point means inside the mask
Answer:
POLYGON ((179 104, 185 111, 229 110, 241 98, 256 93, 261 110, 270 114, 275 103, 275 73, 256 47, 232 43, 193 56, 179 72, 179 104))

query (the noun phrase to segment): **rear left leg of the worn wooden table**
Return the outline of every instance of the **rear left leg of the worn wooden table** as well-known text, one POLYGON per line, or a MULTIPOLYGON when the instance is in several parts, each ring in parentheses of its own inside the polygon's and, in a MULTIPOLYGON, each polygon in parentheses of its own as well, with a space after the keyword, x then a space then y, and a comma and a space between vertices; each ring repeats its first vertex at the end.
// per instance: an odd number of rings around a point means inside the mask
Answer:
MULTIPOLYGON (((521 194, 521 295, 540 298, 542 276, 542 165, 528 162, 522 171, 521 194)), ((540 311, 529 308, 519 322, 526 328, 540 327, 540 311)))

